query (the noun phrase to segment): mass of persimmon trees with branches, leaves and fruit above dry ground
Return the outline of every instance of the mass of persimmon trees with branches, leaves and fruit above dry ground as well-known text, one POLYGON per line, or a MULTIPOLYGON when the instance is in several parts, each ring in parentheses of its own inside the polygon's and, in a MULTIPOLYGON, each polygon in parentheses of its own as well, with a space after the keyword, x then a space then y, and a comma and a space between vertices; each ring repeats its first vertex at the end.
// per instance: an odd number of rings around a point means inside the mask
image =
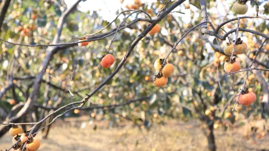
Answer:
POLYGON ((111 22, 78 11, 82 1, 70 8, 61 0, 1 2, 0 137, 17 125, 26 131, 12 134, 13 148, 37 150, 36 133, 47 137, 70 111, 100 109, 113 120, 113 110, 148 129, 163 116, 191 116, 210 151, 214 129, 239 117, 267 118, 266 0, 134 0, 111 22), (214 8, 220 5, 224 16, 214 8))

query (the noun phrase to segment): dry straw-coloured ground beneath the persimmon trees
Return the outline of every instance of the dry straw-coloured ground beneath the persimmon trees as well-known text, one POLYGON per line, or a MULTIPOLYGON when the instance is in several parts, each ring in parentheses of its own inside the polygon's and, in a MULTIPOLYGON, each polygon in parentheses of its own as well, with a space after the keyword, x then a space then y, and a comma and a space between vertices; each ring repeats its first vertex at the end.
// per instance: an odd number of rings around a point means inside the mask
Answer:
MULTIPOLYGON (((41 139, 39 151, 207 151, 207 138, 196 121, 170 120, 166 125, 153 125, 150 131, 139 129, 132 123, 108 128, 108 122, 64 122, 56 124, 47 139, 41 139), (95 131, 94 125, 97 125, 95 131)), ((269 151, 269 136, 247 140, 242 128, 215 132, 218 151, 269 151)), ((0 150, 11 145, 6 134, 0 139, 0 150)))

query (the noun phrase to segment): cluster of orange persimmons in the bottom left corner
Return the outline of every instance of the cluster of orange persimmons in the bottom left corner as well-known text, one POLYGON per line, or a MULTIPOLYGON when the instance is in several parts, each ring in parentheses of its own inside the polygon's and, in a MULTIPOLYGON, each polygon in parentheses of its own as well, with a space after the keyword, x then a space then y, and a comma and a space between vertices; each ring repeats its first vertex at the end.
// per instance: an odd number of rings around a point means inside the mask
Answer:
POLYGON ((13 148, 11 151, 37 151, 40 147, 39 139, 33 137, 29 131, 23 131, 18 125, 12 125, 9 134, 13 136, 13 148))

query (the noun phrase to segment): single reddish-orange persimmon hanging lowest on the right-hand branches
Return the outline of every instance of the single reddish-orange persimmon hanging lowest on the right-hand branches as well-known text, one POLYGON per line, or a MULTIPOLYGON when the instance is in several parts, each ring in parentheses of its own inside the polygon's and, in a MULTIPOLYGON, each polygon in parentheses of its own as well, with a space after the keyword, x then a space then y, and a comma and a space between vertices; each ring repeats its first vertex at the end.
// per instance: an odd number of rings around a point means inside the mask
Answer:
MULTIPOLYGON (((238 99, 238 96, 236 96, 236 101, 238 99)), ((249 92, 248 89, 243 90, 242 94, 239 97, 238 103, 248 106, 256 101, 256 94, 253 92, 249 92)))

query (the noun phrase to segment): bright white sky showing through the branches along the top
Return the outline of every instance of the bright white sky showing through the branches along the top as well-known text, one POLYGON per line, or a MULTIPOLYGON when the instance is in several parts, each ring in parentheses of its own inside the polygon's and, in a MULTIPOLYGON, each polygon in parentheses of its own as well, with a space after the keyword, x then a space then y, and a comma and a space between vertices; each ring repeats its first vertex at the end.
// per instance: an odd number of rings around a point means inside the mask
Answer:
MULTIPOLYGON (((68 7, 70 7, 76 0, 64 0, 68 7)), ((149 3, 156 2, 157 0, 141 0, 142 3, 149 3)), ((221 2, 215 2, 215 6, 210 9, 210 14, 218 13, 220 16, 225 15, 225 8, 228 9, 234 0, 221 0, 221 2)), ((189 3, 186 0, 184 3, 189 3)), ((112 21, 116 18, 116 11, 121 9, 126 4, 133 4, 133 0, 124 0, 124 3, 121 4, 120 0, 86 0, 85 2, 80 2, 79 10, 82 12, 87 12, 90 10, 91 12, 97 11, 98 14, 102 17, 102 19, 107 21, 112 21)), ((250 2, 248 4, 248 12, 246 15, 252 16, 255 14, 255 8, 251 8, 250 2), (250 9, 251 8, 251 9, 250 9)), ((260 9, 264 9, 262 4, 260 9)), ((149 5, 150 6, 150 5, 149 5)), ((198 11, 198 9, 192 5, 190 5, 190 9, 194 12, 198 11)), ((185 23, 189 23, 190 19, 190 9, 185 9, 184 5, 180 5, 179 7, 175 8, 174 11, 181 11, 184 12, 185 15, 179 13, 172 13, 174 17, 182 17, 185 23)), ((200 12, 199 12, 200 13, 200 12)), ((199 13, 195 14, 195 17, 199 17, 199 13)), ((238 15, 240 16, 240 15, 238 15)))

